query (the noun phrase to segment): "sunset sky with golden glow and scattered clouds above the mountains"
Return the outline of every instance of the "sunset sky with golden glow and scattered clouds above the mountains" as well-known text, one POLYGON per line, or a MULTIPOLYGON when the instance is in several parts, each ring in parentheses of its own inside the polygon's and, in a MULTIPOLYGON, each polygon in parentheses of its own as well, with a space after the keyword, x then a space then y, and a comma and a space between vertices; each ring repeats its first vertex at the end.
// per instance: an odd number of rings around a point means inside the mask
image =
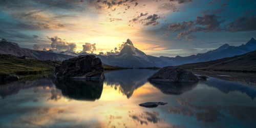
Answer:
POLYGON ((0 0, 0 38, 37 50, 205 53, 256 38, 254 0, 0 0))

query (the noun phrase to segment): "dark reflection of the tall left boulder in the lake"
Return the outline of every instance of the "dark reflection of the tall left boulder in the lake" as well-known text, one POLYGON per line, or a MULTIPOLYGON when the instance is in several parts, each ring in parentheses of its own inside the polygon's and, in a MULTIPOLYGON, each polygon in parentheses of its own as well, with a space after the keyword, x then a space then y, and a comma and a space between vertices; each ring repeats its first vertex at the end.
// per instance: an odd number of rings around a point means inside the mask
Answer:
POLYGON ((61 89, 63 96, 77 100, 99 99, 103 90, 103 82, 89 80, 52 80, 61 89))

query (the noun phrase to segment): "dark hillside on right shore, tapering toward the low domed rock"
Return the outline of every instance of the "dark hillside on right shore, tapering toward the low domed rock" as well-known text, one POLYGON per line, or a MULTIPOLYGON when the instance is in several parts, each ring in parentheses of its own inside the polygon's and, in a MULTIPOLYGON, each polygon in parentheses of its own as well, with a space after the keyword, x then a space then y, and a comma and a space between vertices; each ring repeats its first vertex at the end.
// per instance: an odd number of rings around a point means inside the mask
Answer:
POLYGON ((208 62, 183 64, 179 67, 196 70, 256 72, 256 50, 240 56, 208 62))

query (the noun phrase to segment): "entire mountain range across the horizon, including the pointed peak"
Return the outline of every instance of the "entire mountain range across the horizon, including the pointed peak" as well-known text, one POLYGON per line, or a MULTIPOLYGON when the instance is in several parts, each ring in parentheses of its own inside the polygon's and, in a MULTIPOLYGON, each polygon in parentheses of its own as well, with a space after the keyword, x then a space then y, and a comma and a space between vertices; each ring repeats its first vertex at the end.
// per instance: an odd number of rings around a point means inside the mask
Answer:
MULTIPOLYGON (((233 57, 242 55, 256 49, 256 40, 251 38, 246 44, 240 46, 230 46, 224 44, 217 49, 210 50, 203 54, 191 55, 187 57, 154 57, 146 55, 138 48, 134 47, 130 39, 123 44, 123 48, 118 55, 95 55, 99 57, 104 64, 121 67, 164 67, 177 66, 186 63, 206 62, 221 58, 233 57)), ((18 44, 2 39, 0 42, 0 54, 11 54, 15 56, 31 56, 40 60, 59 60, 63 61, 79 55, 89 55, 88 53, 72 53, 48 50, 46 52, 21 48, 18 44)), ((91 54, 90 54, 91 55, 91 54)))

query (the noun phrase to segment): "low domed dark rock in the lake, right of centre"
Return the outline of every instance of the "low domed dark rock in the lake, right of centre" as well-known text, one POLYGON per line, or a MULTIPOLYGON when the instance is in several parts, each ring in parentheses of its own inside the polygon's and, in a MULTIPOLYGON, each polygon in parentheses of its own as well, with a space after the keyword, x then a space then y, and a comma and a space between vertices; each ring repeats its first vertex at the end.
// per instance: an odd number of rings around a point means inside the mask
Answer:
POLYGON ((198 82, 197 76, 192 72, 174 66, 161 68, 148 80, 153 82, 198 82))

